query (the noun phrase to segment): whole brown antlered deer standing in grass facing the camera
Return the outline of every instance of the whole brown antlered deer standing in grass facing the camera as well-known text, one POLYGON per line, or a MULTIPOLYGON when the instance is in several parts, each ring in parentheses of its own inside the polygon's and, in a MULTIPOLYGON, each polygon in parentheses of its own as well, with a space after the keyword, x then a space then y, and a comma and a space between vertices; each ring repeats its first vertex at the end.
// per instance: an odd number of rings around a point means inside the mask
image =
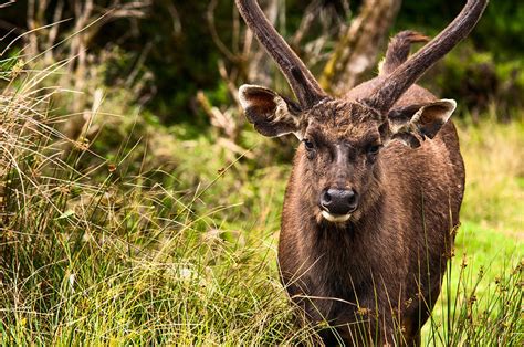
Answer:
POLYGON ((440 293, 464 191, 449 118, 417 80, 465 38, 488 0, 468 0, 437 38, 408 59, 411 31, 389 43, 379 75, 328 96, 265 19, 237 0, 248 27, 287 78, 297 103, 240 87, 248 119, 265 136, 294 134, 296 150, 279 244, 281 277, 325 343, 420 344, 440 293))

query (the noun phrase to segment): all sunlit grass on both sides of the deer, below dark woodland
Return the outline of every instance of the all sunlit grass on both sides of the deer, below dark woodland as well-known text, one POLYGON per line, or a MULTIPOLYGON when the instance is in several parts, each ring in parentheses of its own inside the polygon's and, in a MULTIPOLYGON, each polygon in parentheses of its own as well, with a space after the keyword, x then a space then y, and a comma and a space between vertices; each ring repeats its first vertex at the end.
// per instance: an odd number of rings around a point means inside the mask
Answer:
MULTIPOLYGON (((277 278, 290 169, 274 164, 277 145, 245 130, 248 159, 212 132, 157 125, 124 107, 126 95, 107 97, 69 139, 60 130, 71 95, 39 87, 46 75, 3 76, 3 345, 315 340, 295 326, 277 278)), ((518 346, 524 122, 460 128, 462 228, 423 343, 518 346)))

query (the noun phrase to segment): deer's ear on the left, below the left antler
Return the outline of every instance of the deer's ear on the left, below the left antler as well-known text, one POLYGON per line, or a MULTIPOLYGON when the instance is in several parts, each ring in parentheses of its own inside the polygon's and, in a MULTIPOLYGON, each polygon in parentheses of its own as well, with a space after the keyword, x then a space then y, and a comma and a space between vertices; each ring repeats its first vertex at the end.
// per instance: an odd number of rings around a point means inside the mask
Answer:
POLYGON ((292 101, 275 92, 244 84, 239 90, 239 98, 245 117, 264 136, 282 136, 293 133, 302 139, 302 111, 292 101))

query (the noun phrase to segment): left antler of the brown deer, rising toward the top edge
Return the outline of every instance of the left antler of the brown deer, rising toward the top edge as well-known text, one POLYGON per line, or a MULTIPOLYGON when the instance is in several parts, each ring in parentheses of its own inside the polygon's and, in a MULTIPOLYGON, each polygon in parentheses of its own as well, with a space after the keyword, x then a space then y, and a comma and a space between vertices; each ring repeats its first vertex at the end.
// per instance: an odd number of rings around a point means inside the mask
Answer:
POLYGON ((327 95, 304 63, 265 18, 256 1, 235 0, 240 14, 259 42, 279 65, 303 107, 312 107, 327 95))

